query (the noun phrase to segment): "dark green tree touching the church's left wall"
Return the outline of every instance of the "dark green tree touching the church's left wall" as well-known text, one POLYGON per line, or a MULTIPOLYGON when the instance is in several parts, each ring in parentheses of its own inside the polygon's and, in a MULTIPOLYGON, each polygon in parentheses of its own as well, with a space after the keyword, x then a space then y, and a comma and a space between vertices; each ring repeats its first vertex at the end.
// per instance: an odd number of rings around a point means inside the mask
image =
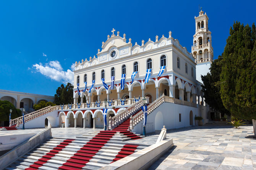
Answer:
POLYGON ((67 105, 68 103, 73 102, 73 88, 74 86, 71 83, 68 83, 66 87, 62 84, 56 90, 56 94, 54 95, 54 102, 56 105, 63 104, 67 105))

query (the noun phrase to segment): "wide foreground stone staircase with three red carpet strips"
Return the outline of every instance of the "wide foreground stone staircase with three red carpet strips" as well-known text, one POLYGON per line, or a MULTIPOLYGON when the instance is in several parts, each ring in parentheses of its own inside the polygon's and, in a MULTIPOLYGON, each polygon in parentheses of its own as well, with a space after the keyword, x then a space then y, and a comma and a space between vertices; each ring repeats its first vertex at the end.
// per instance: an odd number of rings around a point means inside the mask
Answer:
POLYGON ((96 170, 149 146, 115 140, 126 133, 107 130, 94 137, 52 138, 5 170, 96 170))

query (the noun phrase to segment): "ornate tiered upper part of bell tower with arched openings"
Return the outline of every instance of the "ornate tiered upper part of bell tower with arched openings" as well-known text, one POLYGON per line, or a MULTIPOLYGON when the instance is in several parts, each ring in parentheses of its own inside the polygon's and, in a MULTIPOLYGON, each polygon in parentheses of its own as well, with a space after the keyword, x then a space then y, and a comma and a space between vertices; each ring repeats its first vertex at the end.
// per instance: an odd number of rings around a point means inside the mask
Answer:
POLYGON ((196 21, 196 33, 193 36, 193 46, 191 52, 196 63, 211 62, 213 60, 212 36, 208 29, 208 16, 204 11, 199 12, 196 21))

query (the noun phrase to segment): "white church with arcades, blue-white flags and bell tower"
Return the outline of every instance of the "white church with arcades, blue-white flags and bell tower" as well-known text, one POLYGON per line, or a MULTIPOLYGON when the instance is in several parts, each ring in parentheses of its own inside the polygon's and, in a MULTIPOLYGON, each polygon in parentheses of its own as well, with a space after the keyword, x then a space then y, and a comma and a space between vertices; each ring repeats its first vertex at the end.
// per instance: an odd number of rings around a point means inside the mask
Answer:
MULTIPOLYGON (((204 103, 201 75, 209 72, 213 49, 206 13, 200 11, 195 25, 191 52, 172 32, 132 44, 125 33, 120 36, 113 29, 97 57, 75 63, 75 104, 32 113, 25 118, 25 127, 44 127, 39 119, 47 118, 53 127, 103 128, 103 109, 107 108, 109 129, 130 118, 130 130, 142 133, 143 98, 148 105, 147 132, 164 125, 167 129, 193 126, 195 116, 207 123, 211 110, 204 103)), ((17 127, 22 123, 21 118, 11 122, 17 127)))

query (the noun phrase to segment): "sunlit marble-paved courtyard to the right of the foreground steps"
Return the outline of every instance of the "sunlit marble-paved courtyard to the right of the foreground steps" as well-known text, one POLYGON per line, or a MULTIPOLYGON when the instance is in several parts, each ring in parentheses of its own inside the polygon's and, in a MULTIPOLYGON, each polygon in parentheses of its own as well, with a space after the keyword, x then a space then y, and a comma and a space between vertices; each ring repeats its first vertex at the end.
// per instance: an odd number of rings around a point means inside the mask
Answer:
POLYGON ((167 138, 173 138, 173 148, 149 170, 256 170, 252 126, 194 126, 170 130, 167 138))

